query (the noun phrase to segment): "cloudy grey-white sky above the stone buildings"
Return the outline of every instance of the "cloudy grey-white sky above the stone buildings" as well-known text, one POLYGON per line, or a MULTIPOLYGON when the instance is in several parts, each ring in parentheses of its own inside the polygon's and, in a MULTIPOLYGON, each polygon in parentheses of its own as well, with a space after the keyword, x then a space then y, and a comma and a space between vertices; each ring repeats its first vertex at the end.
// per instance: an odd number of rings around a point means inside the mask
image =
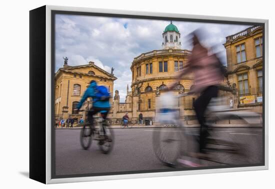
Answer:
MULTIPOLYGON (((181 48, 191 50, 188 33, 196 28, 204 31, 203 43, 214 46, 223 62, 226 62, 223 43, 225 37, 250 25, 213 24, 172 21, 180 32, 181 48)), ((87 64, 93 61, 110 72, 114 67, 114 90, 119 90, 120 101, 131 83, 130 65, 134 57, 154 49, 161 49, 162 32, 170 21, 101 16, 56 14, 55 16, 55 71, 63 65, 62 56, 68 57, 68 65, 87 64)))

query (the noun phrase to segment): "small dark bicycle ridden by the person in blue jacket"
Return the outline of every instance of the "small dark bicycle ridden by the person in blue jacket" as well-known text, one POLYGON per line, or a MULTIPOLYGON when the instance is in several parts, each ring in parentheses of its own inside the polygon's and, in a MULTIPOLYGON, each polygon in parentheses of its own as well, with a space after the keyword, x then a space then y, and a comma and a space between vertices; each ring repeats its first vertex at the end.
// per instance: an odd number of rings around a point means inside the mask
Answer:
POLYGON ((83 149, 88 149, 91 145, 91 141, 97 140, 99 149, 103 153, 109 153, 113 148, 114 135, 111 128, 107 123, 107 119, 104 120, 103 114, 100 113, 95 124, 90 124, 89 122, 84 122, 83 127, 80 131, 80 144, 83 149), (96 125, 96 126, 94 126, 96 125))

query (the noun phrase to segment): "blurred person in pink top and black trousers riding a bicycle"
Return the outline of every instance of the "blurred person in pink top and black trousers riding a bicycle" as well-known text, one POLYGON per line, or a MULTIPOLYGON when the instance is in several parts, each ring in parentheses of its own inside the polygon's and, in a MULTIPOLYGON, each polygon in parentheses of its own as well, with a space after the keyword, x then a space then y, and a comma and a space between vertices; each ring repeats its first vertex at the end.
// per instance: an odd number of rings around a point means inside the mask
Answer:
POLYGON ((188 62, 169 88, 173 88, 184 74, 194 73, 194 85, 190 93, 200 93, 200 96, 194 102, 195 113, 200 124, 200 153, 196 154, 199 157, 204 155, 205 138, 208 136, 204 112, 211 98, 217 97, 218 85, 223 79, 223 75, 219 59, 214 54, 208 55, 208 50, 199 42, 198 33, 193 33, 192 42, 193 49, 188 57, 188 62))

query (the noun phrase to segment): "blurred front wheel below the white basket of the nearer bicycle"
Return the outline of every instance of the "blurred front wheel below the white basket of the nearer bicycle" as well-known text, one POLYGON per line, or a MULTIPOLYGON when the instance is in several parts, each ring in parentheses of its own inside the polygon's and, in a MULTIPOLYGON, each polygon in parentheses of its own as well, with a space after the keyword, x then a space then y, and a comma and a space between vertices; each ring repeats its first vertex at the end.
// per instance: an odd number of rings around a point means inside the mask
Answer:
POLYGON ((180 156, 183 140, 180 127, 156 128, 153 131, 153 150, 156 157, 167 166, 175 166, 180 156))

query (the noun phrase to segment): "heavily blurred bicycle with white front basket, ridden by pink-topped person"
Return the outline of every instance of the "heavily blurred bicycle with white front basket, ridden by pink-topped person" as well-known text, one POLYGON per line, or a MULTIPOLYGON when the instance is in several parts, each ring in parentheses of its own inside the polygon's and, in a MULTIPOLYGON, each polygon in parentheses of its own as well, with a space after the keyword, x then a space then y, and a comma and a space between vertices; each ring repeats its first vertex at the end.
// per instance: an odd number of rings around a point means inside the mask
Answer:
MULTIPOLYGON (((185 93, 180 96, 184 95, 189 94, 185 93)), ((206 146, 204 148, 208 156, 205 155, 203 157, 194 155, 198 151, 198 130, 189 131, 189 128, 184 126, 182 121, 179 120, 179 114, 176 113, 177 110, 178 109, 175 108, 160 108, 158 110, 158 116, 160 117, 160 122, 162 124, 176 125, 172 128, 156 128, 153 132, 153 150, 156 157, 163 164, 176 167, 179 164, 177 160, 180 157, 186 157, 187 159, 195 159, 195 161, 199 161, 196 166, 204 166, 201 161, 229 165, 234 164, 232 161, 237 159, 238 162, 247 163, 247 144, 237 142, 236 138, 231 139, 231 141, 218 138, 218 131, 216 131, 217 129, 213 127, 212 124, 217 120, 228 119, 232 117, 246 120, 247 124, 250 124, 251 121, 247 121, 247 118, 255 118, 258 116, 257 113, 245 111, 241 112, 241 115, 239 115, 239 112, 229 111, 229 109, 225 106, 217 106, 216 100, 212 100, 208 105, 207 124, 209 125, 209 136, 206 137, 206 146), (169 117, 169 119, 167 117, 169 117), (173 121, 171 122, 169 120, 173 121), (227 158, 227 161, 229 162, 226 162, 226 160, 222 162, 219 161, 220 155, 229 156, 230 158, 227 158)), ((260 119, 258 118, 258 120, 260 119)))

